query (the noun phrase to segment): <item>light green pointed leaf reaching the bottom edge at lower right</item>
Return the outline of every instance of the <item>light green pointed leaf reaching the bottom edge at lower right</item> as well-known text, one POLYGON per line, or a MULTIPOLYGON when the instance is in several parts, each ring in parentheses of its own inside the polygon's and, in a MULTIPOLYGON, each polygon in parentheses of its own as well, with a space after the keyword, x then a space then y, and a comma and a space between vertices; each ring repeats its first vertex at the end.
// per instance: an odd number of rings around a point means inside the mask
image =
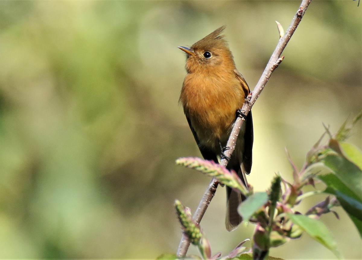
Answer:
POLYGON ((332 238, 332 233, 323 222, 308 218, 304 215, 288 214, 291 221, 302 228, 308 235, 317 240, 323 246, 331 250, 338 259, 342 259, 342 254, 337 249, 336 241, 332 238))

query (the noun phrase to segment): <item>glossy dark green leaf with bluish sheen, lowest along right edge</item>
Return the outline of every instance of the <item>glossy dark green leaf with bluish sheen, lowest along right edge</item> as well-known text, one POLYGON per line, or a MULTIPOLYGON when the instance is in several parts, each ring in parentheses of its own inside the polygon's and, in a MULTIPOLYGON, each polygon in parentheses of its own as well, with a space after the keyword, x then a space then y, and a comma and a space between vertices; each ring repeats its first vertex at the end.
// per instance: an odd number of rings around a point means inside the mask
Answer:
POLYGON ((324 192, 337 197, 341 206, 357 227, 359 235, 362 237, 362 201, 348 186, 342 183, 336 175, 332 173, 321 175, 319 179, 327 185, 324 192))

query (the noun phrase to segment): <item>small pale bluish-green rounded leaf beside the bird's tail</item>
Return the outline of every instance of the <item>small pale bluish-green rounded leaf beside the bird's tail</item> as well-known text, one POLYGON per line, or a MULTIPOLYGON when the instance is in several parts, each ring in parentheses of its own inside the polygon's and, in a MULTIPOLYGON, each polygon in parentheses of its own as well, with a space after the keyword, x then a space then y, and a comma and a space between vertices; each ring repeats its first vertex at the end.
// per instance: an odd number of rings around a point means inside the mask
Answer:
POLYGON ((248 221, 254 212, 266 204, 267 201, 268 194, 266 192, 256 192, 239 205, 237 212, 243 217, 244 221, 248 221))

